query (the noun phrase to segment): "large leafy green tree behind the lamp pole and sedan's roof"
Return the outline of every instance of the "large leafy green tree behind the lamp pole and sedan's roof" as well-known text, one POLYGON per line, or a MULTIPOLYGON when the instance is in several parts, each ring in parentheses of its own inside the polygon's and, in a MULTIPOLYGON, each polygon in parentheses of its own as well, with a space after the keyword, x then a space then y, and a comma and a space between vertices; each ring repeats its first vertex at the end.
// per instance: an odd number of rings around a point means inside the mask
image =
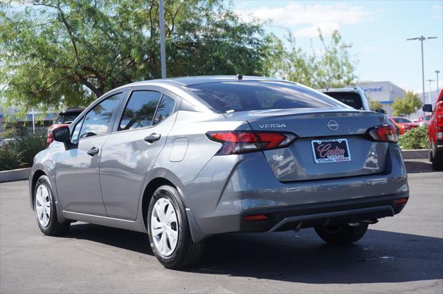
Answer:
MULTIPOLYGON (((0 84, 24 109, 86 105, 110 89, 161 77, 157 0, 0 4, 0 84)), ((165 1, 168 76, 262 75, 269 36, 221 0, 165 1)))

